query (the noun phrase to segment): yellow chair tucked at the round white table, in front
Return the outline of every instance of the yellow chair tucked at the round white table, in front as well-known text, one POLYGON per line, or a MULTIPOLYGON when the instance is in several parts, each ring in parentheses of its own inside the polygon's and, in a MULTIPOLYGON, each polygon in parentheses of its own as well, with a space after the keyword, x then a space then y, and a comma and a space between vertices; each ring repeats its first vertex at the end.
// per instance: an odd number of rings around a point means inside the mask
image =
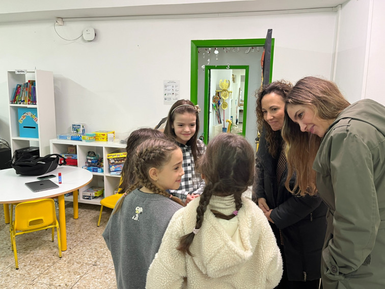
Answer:
MULTIPOLYGON (((11 216, 13 204, 11 205, 11 216)), ((52 229, 56 227, 58 233, 59 257, 62 257, 62 247, 60 243, 59 223, 56 219, 55 204, 52 199, 41 199, 36 201, 18 203, 15 207, 15 220, 11 223, 11 244, 15 256, 16 270, 19 269, 16 251, 16 236, 24 233, 35 232, 39 230, 52 229)))

